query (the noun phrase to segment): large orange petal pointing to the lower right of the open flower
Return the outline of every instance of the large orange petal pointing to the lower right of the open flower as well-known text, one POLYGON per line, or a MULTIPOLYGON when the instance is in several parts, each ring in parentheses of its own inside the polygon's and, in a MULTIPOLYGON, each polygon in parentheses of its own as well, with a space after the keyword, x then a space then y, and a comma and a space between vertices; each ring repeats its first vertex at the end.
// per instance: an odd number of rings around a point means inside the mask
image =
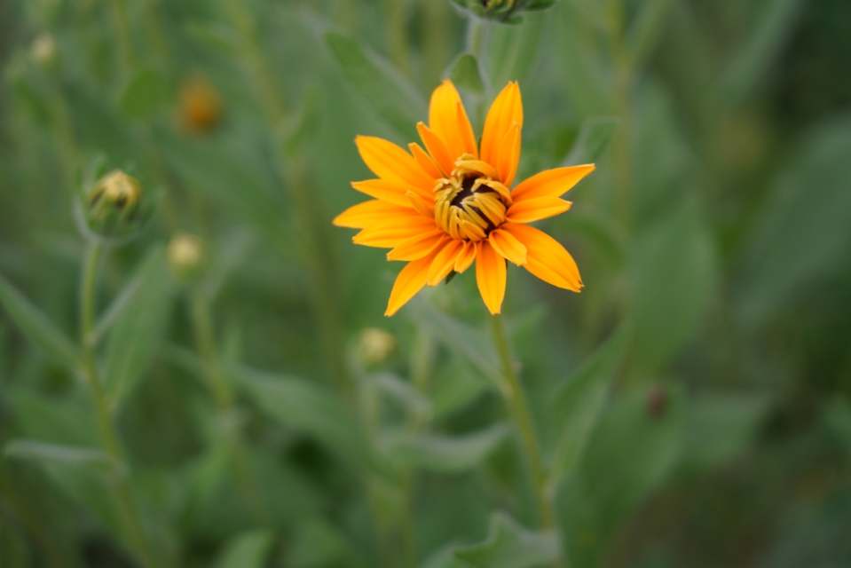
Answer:
POLYGON ((506 223, 500 229, 513 234, 525 245, 526 270, 553 286, 579 292, 582 288, 579 268, 558 241, 529 225, 506 223))

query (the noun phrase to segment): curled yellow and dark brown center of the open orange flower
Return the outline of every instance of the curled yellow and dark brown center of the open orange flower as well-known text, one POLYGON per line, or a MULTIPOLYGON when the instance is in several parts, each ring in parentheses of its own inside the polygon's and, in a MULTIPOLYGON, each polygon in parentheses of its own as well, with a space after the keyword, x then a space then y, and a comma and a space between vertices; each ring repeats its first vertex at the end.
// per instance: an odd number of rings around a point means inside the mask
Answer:
POLYGON ((453 239, 482 241, 505 223, 511 204, 508 188, 493 179, 492 167, 464 155, 448 178, 435 185, 435 221, 453 239))

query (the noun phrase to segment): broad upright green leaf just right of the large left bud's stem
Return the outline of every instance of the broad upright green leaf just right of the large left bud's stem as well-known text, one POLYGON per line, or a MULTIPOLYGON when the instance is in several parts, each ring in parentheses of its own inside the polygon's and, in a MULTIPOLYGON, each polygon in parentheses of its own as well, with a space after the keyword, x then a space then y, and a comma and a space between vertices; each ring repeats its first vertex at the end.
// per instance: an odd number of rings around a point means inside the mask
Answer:
POLYGON ((169 322, 175 288, 165 249, 148 253, 133 280, 138 291, 116 319, 106 348, 106 396, 112 405, 121 405, 146 372, 169 322))

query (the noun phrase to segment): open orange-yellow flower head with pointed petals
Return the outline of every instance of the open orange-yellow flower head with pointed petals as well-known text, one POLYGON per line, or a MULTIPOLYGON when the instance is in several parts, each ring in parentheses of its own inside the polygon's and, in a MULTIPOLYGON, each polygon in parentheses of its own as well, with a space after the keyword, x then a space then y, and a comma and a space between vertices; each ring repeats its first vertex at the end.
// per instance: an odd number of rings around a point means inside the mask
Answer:
POLYGON ((436 286, 474 262, 491 313, 500 312, 505 296, 506 259, 559 288, 582 288, 571 255, 526 224, 570 209, 561 195, 594 165, 542 171, 511 190, 522 129, 520 87, 508 83, 493 101, 477 146, 458 91, 444 81, 431 95, 429 126, 417 124, 428 152, 415 142, 408 154, 382 138, 355 139, 378 178, 351 185, 375 199, 347 209, 334 224, 361 229, 354 242, 392 248, 388 260, 408 262, 384 315, 398 312, 426 284, 436 286))

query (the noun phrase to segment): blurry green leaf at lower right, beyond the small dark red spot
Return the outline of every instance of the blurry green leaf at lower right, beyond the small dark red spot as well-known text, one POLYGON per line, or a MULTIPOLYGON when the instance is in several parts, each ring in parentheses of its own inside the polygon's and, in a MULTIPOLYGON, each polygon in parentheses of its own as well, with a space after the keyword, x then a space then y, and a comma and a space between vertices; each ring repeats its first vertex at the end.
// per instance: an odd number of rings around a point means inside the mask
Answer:
POLYGON ((757 434, 769 402, 759 394, 702 393, 689 399, 685 465, 712 469, 736 457, 757 434))

